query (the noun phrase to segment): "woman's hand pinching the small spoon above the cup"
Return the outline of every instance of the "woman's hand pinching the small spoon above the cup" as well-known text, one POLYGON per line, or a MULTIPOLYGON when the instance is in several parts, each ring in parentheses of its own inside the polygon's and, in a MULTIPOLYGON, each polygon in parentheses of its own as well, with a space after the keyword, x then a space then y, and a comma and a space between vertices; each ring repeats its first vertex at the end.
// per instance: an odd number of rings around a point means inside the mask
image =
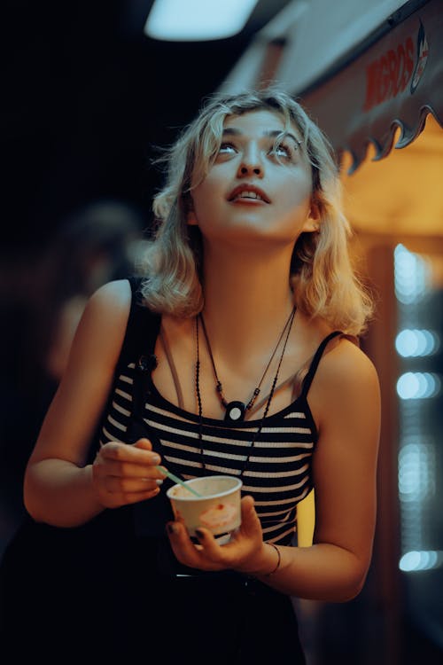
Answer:
POLYGON ((148 439, 139 439, 133 445, 105 443, 92 465, 92 485, 97 500, 105 508, 118 508, 156 497, 165 478, 155 468, 160 461, 148 439))

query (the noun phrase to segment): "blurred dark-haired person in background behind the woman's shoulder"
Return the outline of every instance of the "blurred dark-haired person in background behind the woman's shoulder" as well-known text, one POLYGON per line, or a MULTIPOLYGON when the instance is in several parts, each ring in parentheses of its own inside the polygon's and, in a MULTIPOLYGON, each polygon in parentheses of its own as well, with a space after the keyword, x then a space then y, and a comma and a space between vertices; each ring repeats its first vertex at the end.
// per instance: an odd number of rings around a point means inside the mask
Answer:
POLYGON ((76 210, 43 257, 39 338, 46 411, 66 369, 74 332, 89 297, 113 279, 135 271, 142 215, 128 203, 99 200, 76 210))

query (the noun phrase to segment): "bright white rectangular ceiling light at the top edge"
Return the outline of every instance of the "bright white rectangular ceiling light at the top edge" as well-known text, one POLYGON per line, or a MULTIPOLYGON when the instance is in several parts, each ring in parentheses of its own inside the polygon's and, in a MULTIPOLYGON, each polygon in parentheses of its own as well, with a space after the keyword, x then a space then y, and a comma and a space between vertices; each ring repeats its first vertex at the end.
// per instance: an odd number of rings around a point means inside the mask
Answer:
POLYGON ((237 35, 258 0, 155 0, 144 25, 154 39, 195 42, 237 35))

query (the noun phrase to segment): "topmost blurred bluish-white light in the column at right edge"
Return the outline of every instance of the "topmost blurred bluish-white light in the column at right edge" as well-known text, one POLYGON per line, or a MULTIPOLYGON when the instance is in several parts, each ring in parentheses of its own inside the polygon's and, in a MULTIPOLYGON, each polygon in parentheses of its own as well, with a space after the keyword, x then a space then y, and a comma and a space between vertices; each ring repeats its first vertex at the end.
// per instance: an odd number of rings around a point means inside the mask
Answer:
POLYGON ((423 298, 429 282, 429 266, 423 257, 403 245, 394 249, 394 282, 397 300, 411 304, 423 298))

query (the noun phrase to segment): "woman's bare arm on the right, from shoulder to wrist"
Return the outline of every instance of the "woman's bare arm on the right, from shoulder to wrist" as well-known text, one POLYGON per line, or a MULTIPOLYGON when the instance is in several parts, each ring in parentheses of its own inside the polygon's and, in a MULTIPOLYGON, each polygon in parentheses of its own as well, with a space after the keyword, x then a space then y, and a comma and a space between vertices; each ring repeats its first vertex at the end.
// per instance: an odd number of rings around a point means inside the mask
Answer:
POLYGON ((280 569, 266 580, 300 598, 343 601, 361 591, 376 523, 380 395, 369 358, 341 342, 319 365, 309 403, 320 434, 314 544, 280 548, 280 569))

